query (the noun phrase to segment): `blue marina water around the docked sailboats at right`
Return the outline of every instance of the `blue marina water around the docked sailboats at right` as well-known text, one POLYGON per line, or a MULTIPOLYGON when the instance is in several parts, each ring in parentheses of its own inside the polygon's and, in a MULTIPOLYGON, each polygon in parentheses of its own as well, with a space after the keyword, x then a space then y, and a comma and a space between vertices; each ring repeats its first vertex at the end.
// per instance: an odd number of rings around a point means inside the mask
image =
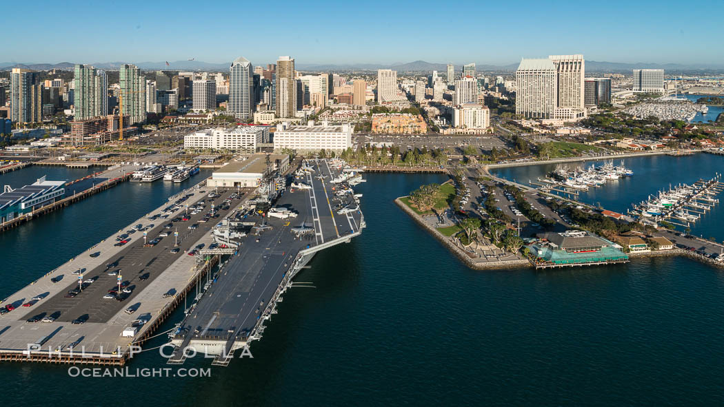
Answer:
MULTIPOLYGON (((574 168, 585 166, 589 168, 592 163, 601 166, 602 161, 586 161, 586 163, 566 163, 574 168)), ((620 160, 614 160, 615 165, 620 160)), ((587 192, 580 192, 576 197, 581 202, 602 205, 607 210, 626 213, 631 209, 632 203, 647 200, 649 195, 657 194, 669 186, 691 184, 699 179, 711 179, 716 173, 724 173, 724 156, 707 153, 698 153, 688 157, 670 157, 669 155, 649 155, 646 157, 633 157, 624 160, 626 167, 633 170, 633 176, 614 181, 608 181, 600 188, 590 188, 587 192)), ((523 166, 510 168, 497 168, 492 170, 498 176, 528 184, 529 180, 543 178, 547 173, 562 164, 546 164, 541 166, 523 166)), ((724 201, 724 194, 719 197, 724 201)), ((703 215, 699 222, 691 226, 691 231, 697 236, 705 238, 715 237, 717 241, 724 240, 724 207, 718 205, 712 211, 703 215)))

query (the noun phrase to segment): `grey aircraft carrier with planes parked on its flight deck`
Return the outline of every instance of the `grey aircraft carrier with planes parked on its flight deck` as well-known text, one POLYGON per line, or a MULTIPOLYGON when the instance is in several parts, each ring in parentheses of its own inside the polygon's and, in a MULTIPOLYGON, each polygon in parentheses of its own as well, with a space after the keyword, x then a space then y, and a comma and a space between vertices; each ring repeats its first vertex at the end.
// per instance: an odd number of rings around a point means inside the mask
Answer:
MULTIPOLYGON (((172 334, 169 364, 203 354, 227 366, 234 351, 261 338, 292 278, 316 252, 361 234, 360 196, 350 188, 361 176, 342 169, 338 160, 308 160, 265 216, 248 203, 230 219, 250 227, 229 245, 233 254, 172 334)), ((202 253, 224 254, 223 249, 202 253)))

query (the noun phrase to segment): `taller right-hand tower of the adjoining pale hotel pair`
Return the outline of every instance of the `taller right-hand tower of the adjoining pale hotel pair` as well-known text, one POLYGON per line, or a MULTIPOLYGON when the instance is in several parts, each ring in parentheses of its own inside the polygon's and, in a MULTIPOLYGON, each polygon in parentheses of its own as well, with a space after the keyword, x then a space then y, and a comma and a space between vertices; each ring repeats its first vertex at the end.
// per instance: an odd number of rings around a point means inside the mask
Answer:
POLYGON ((558 95, 556 107, 584 108, 584 76, 586 62, 583 55, 548 56, 556 67, 558 95))

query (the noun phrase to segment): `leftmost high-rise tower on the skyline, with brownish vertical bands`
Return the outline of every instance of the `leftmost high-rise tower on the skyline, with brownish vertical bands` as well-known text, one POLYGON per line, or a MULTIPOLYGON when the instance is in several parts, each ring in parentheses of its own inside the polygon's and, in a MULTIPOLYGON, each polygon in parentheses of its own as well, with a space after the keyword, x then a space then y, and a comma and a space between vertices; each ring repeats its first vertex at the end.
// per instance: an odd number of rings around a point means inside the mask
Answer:
POLYGON ((20 124, 43 120, 43 85, 38 72, 21 68, 10 72, 10 120, 20 124))

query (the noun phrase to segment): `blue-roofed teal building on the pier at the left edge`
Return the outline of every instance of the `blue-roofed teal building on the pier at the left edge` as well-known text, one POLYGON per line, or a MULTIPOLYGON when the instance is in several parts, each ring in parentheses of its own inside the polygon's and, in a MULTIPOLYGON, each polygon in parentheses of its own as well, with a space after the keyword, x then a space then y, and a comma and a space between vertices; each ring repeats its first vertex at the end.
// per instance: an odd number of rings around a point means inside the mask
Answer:
POLYGON ((65 181, 46 181, 43 176, 22 188, 12 189, 6 185, 4 192, 0 194, 0 221, 13 220, 63 197, 64 184, 65 181))

